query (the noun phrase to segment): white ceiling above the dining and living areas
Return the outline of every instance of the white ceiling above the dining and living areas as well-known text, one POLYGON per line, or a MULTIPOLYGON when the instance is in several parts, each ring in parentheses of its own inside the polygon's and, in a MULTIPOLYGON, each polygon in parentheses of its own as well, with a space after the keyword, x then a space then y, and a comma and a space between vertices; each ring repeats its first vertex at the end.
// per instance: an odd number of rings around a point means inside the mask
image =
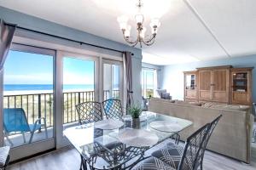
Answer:
MULTIPOLYGON (((125 43, 116 18, 126 14, 130 24, 134 23, 135 2, 2 0, 0 6, 125 43)), ((161 22, 154 45, 143 47, 143 62, 170 65, 256 54, 256 0, 144 0, 143 3, 146 17, 160 16, 161 22)))

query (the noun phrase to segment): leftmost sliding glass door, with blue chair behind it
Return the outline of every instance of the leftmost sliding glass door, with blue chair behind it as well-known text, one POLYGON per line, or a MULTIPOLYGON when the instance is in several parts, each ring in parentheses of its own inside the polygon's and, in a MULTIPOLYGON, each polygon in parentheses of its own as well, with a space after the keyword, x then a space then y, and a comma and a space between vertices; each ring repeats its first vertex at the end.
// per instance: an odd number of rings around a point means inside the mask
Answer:
POLYGON ((54 65, 52 50, 13 45, 9 51, 3 74, 3 144, 11 147, 13 160, 55 147, 54 65))

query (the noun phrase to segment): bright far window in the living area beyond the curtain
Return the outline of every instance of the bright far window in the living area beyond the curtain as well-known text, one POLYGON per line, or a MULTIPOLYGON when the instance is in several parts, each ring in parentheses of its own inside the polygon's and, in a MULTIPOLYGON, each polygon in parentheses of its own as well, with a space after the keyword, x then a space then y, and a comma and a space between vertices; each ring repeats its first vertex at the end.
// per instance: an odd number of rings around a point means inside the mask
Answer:
POLYGON ((155 96, 157 88, 157 74, 154 69, 143 68, 142 74, 142 95, 145 98, 155 96))

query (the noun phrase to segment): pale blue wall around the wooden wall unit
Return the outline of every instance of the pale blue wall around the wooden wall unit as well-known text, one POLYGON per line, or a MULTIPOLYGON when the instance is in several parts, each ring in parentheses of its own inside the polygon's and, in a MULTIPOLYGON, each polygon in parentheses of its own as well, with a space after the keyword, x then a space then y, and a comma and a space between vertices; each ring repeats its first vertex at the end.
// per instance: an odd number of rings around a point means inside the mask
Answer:
POLYGON ((160 87, 166 88, 172 99, 183 99, 183 71, 194 71, 199 67, 233 65, 233 67, 254 67, 253 69, 253 102, 256 102, 256 54, 229 59, 216 59, 179 65, 161 66, 160 87))

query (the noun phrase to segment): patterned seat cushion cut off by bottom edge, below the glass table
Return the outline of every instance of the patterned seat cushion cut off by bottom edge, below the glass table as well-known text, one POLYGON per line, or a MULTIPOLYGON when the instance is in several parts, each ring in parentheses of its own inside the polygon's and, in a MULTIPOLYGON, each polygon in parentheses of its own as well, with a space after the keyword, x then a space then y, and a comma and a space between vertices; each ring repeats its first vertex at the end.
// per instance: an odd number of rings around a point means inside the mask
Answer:
POLYGON ((160 161, 155 157, 149 157, 144 161, 139 162, 132 170, 174 170, 164 161, 160 161))

